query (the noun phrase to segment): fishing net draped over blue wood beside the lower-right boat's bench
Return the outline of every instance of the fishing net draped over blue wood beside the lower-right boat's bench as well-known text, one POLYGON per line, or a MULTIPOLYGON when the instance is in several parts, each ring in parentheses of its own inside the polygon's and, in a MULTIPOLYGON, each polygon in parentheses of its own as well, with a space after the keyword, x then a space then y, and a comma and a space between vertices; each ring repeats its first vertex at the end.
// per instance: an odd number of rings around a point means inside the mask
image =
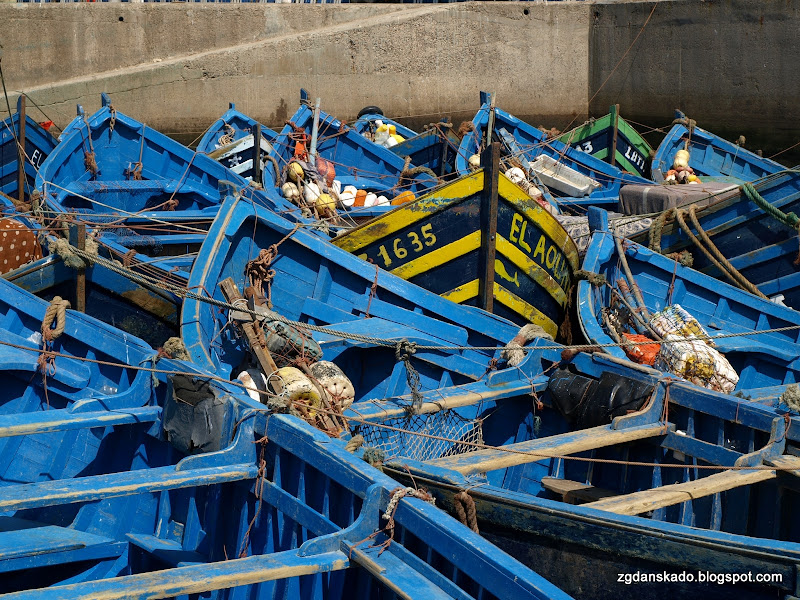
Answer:
POLYGON ((466 419, 455 410, 403 415, 378 426, 363 423, 356 430, 364 436, 364 447, 381 450, 385 460, 433 460, 471 452, 472 444, 483 444, 482 420, 466 419))

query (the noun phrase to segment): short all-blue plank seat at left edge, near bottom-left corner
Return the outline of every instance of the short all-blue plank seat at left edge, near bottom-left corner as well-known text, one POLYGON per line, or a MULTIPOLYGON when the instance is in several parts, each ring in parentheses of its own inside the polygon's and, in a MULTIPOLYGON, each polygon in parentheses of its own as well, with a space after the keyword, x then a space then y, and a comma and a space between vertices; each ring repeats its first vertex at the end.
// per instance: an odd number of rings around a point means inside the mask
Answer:
POLYGON ((0 517, 0 573, 121 556, 125 542, 69 527, 0 517))

